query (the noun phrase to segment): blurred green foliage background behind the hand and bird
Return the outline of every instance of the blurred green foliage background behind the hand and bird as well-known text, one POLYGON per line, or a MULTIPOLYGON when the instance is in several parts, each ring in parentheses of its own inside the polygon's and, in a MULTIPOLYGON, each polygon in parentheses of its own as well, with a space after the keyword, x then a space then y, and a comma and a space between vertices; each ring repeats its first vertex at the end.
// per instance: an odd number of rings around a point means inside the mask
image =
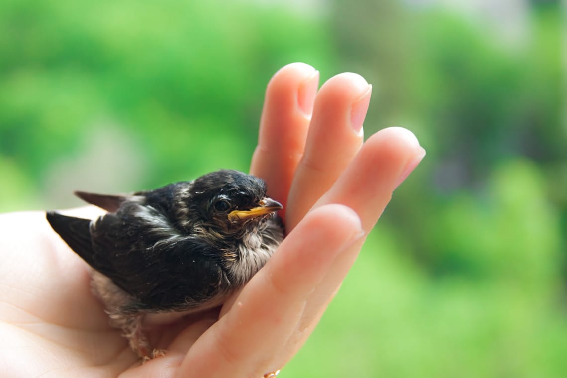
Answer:
POLYGON ((428 151, 284 377, 567 376, 559 1, 0 2, 0 211, 246 171, 289 62, 428 151))

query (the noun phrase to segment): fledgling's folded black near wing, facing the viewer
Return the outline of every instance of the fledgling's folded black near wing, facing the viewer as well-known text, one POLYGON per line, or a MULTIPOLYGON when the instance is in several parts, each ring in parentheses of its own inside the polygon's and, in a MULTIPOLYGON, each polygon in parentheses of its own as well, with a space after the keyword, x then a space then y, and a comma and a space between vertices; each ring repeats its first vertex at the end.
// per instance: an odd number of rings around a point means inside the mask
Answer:
MULTIPOLYGON (((125 214, 125 213, 124 213, 125 214)), ((94 269, 138 299, 132 308, 201 304, 228 283, 221 252, 205 239, 163 232, 151 218, 106 214, 91 228, 94 269)))

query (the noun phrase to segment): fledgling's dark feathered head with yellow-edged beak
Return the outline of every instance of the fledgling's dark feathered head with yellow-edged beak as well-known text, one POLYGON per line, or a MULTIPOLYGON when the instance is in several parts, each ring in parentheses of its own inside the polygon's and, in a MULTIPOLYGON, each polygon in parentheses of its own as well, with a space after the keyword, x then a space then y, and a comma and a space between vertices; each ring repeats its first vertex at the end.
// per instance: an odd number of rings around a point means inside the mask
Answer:
POLYGON ((185 201, 193 231, 219 241, 258 232, 283 206, 266 196, 266 183, 239 171, 221 170, 194 180, 185 201))

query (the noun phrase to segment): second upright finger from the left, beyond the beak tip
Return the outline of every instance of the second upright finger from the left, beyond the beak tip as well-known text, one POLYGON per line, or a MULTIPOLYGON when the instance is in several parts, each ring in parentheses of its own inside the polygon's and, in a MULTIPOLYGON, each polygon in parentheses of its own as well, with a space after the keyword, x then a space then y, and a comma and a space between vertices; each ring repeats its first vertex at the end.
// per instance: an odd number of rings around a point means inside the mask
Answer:
POLYGON ((357 154, 371 86, 358 74, 327 80, 315 99, 305 152, 289 197, 286 228, 290 232, 357 154))

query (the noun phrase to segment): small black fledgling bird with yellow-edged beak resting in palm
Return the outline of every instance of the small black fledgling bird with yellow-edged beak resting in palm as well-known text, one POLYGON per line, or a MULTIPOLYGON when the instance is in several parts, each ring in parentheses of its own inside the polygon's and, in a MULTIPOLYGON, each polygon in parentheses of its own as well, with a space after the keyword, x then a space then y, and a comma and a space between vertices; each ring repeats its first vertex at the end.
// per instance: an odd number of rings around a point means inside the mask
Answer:
POLYGON ((219 307, 272 256, 284 239, 283 206, 266 190, 259 177, 221 169, 127 195, 74 192, 107 213, 46 219, 90 266, 110 325, 145 361, 165 352, 147 337, 150 318, 219 307))

